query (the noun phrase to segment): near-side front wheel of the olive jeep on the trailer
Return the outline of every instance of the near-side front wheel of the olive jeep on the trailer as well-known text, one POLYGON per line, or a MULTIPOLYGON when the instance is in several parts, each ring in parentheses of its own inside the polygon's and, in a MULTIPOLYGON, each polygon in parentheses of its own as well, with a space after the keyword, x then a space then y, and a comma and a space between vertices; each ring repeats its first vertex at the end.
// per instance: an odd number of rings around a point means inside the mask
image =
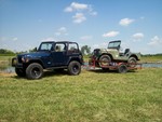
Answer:
POLYGON ((111 57, 109 55, 102 55, 99 57, 99 66, 100 67, 109 66, 110 62, 111 62, 111 57))

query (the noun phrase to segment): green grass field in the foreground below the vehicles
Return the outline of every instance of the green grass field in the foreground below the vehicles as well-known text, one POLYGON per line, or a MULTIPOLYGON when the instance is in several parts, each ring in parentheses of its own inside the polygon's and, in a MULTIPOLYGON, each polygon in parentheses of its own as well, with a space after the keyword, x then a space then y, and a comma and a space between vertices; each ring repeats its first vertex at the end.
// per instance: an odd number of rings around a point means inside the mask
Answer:
POLYGON ((0 122, 161 122, 161 72, 0 73, 0 122))

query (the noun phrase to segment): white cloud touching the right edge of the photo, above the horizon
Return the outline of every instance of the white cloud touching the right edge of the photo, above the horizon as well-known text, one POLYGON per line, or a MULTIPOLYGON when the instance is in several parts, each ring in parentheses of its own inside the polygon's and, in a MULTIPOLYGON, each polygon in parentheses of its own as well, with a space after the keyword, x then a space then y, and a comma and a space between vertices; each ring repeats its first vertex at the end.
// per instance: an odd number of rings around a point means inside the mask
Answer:
POLYGON ((148 45, 152 46, 161 46, 162 45, 162 39, 160 39, 158 36, 154 36, 151 41, 148 43, 148 45))

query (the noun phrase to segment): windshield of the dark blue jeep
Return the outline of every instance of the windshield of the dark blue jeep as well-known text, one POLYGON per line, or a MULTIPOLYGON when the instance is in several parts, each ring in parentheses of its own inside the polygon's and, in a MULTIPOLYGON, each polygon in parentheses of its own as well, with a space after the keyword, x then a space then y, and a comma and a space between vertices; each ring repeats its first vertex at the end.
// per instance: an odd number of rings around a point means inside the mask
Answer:
POLYGON ((53 48, 53 42, 42 42, 39 46, 39 51, 51 51, 53 48))

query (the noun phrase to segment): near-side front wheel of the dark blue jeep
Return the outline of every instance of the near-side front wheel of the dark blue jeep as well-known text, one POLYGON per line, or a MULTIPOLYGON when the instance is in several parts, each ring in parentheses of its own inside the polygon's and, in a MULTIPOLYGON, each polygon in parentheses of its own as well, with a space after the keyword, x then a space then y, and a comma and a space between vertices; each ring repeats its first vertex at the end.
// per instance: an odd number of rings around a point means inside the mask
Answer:
POLYGON ((43 76, 43 68, 38 63, 30 64, 26 69, 26 77, 31 80, 40 79, 43 76))

